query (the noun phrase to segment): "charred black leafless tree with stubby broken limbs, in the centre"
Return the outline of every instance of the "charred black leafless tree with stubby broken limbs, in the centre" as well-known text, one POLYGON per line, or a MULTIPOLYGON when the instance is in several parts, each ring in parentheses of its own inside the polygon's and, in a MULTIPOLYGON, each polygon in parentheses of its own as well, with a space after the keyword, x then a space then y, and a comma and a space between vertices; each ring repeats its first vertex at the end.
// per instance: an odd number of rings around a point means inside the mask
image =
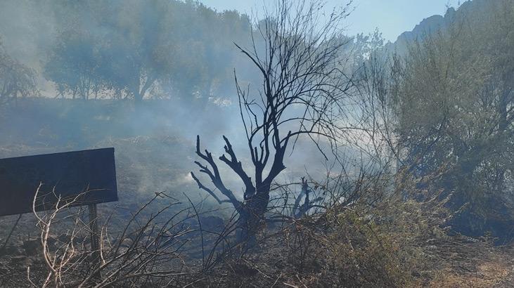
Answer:
POLYGON ((348 9, 349 4, 326 15, 321 1, 276 1, 272 8, 264 7, 262 20, 255 20, 250 47, 236 44, 262 80, 253 91, 250 85, 243 88, 235 75, 251 165, 243 166, 225 136, 226 154, 219 157, 243 181, 243 199, 226 187, 212 153, 200 149, 199 136, 196 154, 206 163, 195 164, 215 189, 193 172, 191 176, 219 204, 231 203, 238 211, 240 240, 255 235, 268 209, 271 184, 285 169, 284 158, 297 139, 310 138, 326 155, 323 145, 335 145, 344 129, 342 101, 351 81, 342 70, 341 48, 347 38, 342 37, 341 22, 348 9), (249 171, 255 171, 254 178, 249 171))

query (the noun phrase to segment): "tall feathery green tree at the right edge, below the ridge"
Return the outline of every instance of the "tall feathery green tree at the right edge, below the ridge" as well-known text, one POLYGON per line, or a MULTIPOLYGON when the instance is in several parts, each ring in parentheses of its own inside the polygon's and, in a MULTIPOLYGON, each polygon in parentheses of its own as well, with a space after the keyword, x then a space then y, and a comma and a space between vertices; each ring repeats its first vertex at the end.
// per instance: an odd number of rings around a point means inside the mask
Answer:
POLYGON ((463 232, 499 235, 514 219, 514 4, 473 1, 453 17, 394 63, 399 142, 413 174, 444 169, 463 232))

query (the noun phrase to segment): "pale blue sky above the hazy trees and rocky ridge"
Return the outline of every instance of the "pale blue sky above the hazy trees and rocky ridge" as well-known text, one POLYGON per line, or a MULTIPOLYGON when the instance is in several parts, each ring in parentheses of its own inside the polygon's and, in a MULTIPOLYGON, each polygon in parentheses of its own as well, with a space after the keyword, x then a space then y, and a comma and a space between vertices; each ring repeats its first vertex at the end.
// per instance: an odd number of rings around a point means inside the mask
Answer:
MULTIPOLYGON (((200 0, 217 11, 236 9, 250 13, 263 0, 200 0)), ((294 0, 293 0, 294 1, 294 0)), ((446 5, 456 7, 458 0, 354 0, 354 12, 347 18, 348 34, 372 32, 379 27, 386 40, 394 41, 401 32, 412 30, 424 18, 444 15, 446 5)), ((267 3, 267 1, 266 1, 267 3)), ((327 6, 342 6, 347 0, 326 0, 327 6)))

